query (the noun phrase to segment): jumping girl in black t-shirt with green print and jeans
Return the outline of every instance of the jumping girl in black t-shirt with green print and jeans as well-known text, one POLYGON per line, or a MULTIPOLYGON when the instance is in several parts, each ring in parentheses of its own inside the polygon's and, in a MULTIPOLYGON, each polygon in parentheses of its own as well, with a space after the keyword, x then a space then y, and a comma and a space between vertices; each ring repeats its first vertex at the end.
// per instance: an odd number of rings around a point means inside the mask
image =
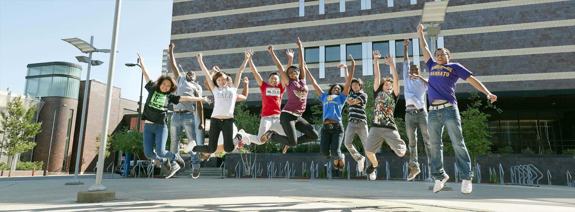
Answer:
POLYGON ((168 105, 178 104, 180 101, 211 101, 208 97, 190 97, 178 96, 173 94, 177 84, 174 78, 168 75, 161 75, 158 80, 150 80, 150 74, 144 65, 144 59, 138 54, 141 62, 142 74, 148 82, 145 89, 148 90, 148 97, 142 112, 144 122, 144 154, 151 160, 160 161, 168 169, 166 178, 170 178, 179 169, 184 167, 184 161, 179 154, 174 154, 166 150, 166 141, 168 138, 168 126, 166 113, 168 105), (156 152, 154 152, 154 143, 156 143, 156 152), (173 160, 170 162, 170 160, 173 160), (175 161, 175 162, 174 162, 175 161))

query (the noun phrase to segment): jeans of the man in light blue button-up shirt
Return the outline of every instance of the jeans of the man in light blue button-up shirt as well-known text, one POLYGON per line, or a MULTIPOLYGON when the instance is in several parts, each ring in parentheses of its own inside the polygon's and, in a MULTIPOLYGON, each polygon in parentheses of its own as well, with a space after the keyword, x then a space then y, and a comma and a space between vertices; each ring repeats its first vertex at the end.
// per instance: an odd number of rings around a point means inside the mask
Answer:
POLYGON ((421 130, 421 137, 423 137, 423 144, 425 147, 425 155, 427 160, 430 160, 430 134, 427 132, 427 111, 411 114, 411 111, 416 109, 405 110, 405 131, 407 131, 407 138, 409 139, 409 166, 414 169, 419 169, 419 162, 417 162, 417 128, 421 130))

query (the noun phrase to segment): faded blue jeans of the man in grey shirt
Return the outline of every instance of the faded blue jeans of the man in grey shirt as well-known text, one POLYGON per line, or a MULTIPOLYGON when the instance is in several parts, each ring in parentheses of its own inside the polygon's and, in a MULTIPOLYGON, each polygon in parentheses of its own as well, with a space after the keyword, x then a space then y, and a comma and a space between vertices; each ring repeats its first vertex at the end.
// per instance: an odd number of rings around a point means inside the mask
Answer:
MULTIPOLYGON (((170 123, 170 152, 179 154, 179 147, 181 141, 182 130, 186 132, 187 142, 196 140, 196 120, 194 119, 194 112, 187 113, 174 113, 170 123)), ((204 145, 204 141, 196 141, 197 145, 204 145)), ((190 152, 191 167, 194 169, 200 168, 200 160, 198 154, 190 152)))

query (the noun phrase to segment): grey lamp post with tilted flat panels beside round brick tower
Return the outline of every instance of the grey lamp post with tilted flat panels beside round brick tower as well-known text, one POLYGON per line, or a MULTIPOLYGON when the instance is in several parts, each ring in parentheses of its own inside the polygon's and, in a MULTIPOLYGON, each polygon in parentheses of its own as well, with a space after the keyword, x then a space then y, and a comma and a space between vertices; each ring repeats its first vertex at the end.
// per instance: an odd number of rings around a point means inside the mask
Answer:
POLYGON ((78 62, 84 62, 84 63, 88 63, 88 70, 86 73, 86 83, 84 84, 84 101, 82 103, 82 120, 80 123, 80 134, 78 136, 78 148, 76 149, 76 168, 74 170, 74 179, 72 179, 72 181, 66 183, 65 185, 81 185, 84 184, 82 183, 80 180, 78 180, 78 169, 79 169, 79 164, 80 164, 80 157, 82 154, 82 141, 83 141, 83 135, 84 135, 84 127, 85 127, 85 122, 86 122, 86 103, 88 100, 88 88, 90 86, 90 69, 91 67, 94 66, 99 66, 102 65, 102 61, 100 60, 92 60, 92 53, 93 52, 106 52, 109 53, 110 50, 98 50, 97 48, 95 48, 94 46, 92 46, 94 44, 94 36, 90 36, 90 43, 86 43, 86 41, 83 41, 81 39, 78 39, 76 37, 74 38, 70 38, 70 39, 62 39, 72 45, 74 45, 76 48, 78 48, 78 50, 82 51, 83 53, 88 53, 88 57, 86 58, 86 56, 76 56, 76 59, 78 60, 78 62))

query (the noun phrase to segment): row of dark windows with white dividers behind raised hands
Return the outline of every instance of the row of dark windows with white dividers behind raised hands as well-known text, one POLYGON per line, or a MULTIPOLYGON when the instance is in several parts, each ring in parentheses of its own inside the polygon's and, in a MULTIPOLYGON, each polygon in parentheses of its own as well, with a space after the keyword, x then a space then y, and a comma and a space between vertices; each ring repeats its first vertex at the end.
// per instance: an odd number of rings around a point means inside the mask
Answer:
MULTIPOLYGON (((431 46, 431 41, 427 41, 428 46, 431 46)), ((407 54, 413 55, 413 40, 409 40, 409 45, 407 46, 407 54)), ((378 50, 379 54, 382 56, 389 54, 389 41, 379 41, 372 43, 373 51, 378 50)), ((395 41, 395 56, 398 58, 403 57, 403 40, 395 41)), ((325 46, 325 62, 338 62, 340 58, 341 48, 339 45, 336 46, 325 46)), ((371 54, 371 52, 369 52, 371 54)), ((305 48, 305 62, 306 63, 317 63, 320 62, 320 47, 308 47, 305 48)), ((362 44, 346 44, 346 60, 351 60, 351 55, 355 60, 362 58, 362 44)), ((419 48, 419 55, 423 55, 421 48, 419 48)))

